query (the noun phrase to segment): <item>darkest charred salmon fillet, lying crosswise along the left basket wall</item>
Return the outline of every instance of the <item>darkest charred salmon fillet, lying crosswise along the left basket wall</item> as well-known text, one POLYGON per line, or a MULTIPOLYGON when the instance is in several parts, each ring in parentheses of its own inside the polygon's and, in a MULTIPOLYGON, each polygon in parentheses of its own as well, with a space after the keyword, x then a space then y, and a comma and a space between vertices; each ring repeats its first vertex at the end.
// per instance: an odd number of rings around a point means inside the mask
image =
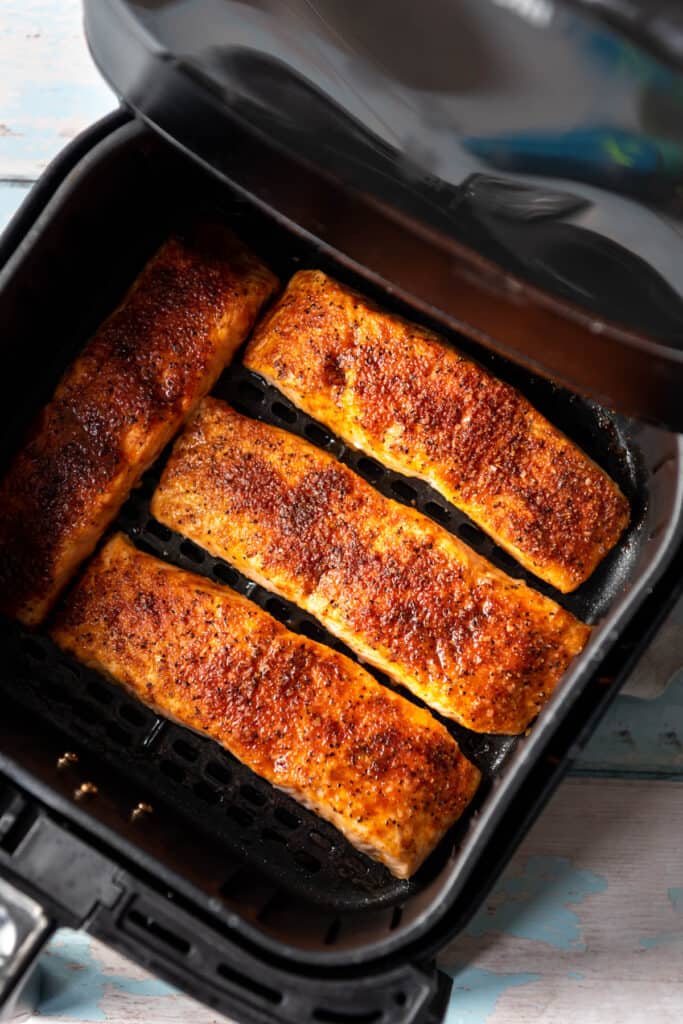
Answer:
POLYGON ((0 482, 0 612, 29 626, 45 617, 276 285, 217 225, 162 246, 0 482))

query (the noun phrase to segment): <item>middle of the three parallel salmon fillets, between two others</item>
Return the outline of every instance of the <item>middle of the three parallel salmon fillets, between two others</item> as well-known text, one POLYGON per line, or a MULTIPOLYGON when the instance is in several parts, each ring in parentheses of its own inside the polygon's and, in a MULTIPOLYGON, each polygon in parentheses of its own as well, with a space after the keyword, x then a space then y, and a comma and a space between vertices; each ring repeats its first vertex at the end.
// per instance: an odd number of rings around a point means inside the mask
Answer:
POLYGON ((478 732, 521 732, 590 628, 299 437, 206 398, 153 514, 478 732))

